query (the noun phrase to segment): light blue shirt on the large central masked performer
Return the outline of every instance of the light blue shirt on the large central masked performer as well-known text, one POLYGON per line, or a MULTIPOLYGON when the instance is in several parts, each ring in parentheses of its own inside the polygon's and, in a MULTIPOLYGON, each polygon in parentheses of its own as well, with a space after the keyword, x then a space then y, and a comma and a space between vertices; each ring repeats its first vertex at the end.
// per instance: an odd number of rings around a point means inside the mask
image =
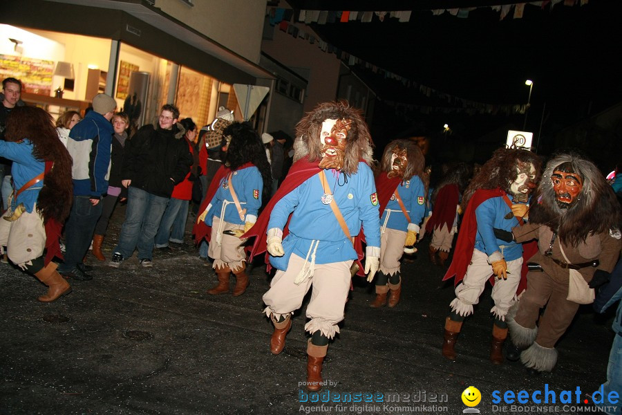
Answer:
MULTIPOLYGON (((347 176, 334 169, 324 170, 328 186, 334 196, 350 235, 355 237, 361 223, 367 246, 380 246, 378 198, 373 172, 359 162, 356 174, 347 176)), ((274 205, 268 229, 283 229, 290 220, 290 233, 283 240, 285 255, 291 252, 306 258, 313 241, 317 245, 315 264, 330 264, 357 258, 330 205, 322 203, 324 190, 317 174, 308 178, 274 205)))

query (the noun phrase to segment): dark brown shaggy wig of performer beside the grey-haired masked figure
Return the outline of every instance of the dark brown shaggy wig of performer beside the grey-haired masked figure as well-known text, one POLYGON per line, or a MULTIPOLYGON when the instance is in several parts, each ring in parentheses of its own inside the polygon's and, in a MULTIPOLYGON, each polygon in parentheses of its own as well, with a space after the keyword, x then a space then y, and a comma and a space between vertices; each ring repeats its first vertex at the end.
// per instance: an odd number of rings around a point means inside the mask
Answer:
POLYGON ((462 203, 460 203, 462 211, 466 211, 466 205, 469 204, 471 196, 477 190, 492 190, 499 187, 504 192, 511 194, 510 185, 516 179, 516 166, 519 163, 534 165, 536 168, 534 183, 538 183, 542 162, 536 154, 525 149, 507 149, 505 147, 497 149, 478 174, 473 177, 469 187, 466 187, 462 196, 462 203))

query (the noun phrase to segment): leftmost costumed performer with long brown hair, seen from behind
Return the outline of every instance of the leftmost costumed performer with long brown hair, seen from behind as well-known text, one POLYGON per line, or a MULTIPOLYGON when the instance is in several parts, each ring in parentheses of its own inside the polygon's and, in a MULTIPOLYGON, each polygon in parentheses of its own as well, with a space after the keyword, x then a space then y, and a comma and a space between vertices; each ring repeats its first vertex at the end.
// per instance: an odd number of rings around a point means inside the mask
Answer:
POLYGON ((73 196, 71 157, 52 117, 28 106, 15 107, 8 116, 0 156, 13 161, 14 195, 0 219, 0 246, 7 247, 14 264, 48 286, 39 301, 53 302, 71 292, 52 262, 62 258, 58 239, 73 196))

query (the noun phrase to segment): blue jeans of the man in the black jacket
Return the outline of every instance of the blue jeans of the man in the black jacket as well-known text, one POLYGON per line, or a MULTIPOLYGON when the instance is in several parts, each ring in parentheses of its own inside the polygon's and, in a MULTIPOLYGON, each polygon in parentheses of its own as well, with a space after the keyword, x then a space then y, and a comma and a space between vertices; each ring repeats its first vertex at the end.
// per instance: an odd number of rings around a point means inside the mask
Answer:
POLYGON ((125 221, 119 243, 113 252, 129 258, 138 248, 139 259, 152 259, 156 233, 169 198, 156 196, 138 187, 130 186, 127 195, 125 221))

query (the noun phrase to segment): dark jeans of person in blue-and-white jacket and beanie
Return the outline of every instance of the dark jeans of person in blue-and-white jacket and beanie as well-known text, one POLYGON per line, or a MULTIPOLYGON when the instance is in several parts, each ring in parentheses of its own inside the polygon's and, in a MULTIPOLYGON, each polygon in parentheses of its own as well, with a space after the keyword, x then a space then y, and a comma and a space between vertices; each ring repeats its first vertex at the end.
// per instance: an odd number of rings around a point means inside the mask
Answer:
POLYGON ((102 201, 93 206, 90 196, 73 196, 69 219, 65 223, 65 260, 59 273, 68 273, 82 262, 93 240, 95 223, 102 214, 102 201))

